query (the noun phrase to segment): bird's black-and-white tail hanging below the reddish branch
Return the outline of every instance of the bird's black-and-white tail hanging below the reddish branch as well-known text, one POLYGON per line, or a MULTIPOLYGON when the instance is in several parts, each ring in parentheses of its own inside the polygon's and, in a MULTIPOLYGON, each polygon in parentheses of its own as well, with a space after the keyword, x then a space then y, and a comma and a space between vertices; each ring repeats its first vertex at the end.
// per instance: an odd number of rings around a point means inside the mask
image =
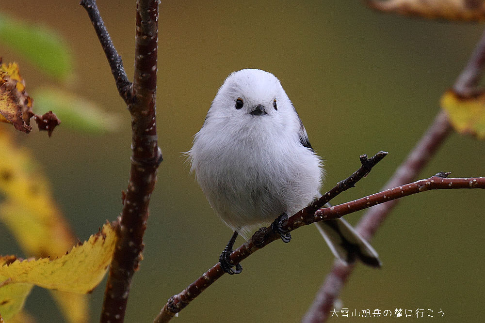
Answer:
POLYGON ((335 257, 348 264, 357 259, 371 267, 380 267, 379 255, 344 219, 316 222, 335 257))

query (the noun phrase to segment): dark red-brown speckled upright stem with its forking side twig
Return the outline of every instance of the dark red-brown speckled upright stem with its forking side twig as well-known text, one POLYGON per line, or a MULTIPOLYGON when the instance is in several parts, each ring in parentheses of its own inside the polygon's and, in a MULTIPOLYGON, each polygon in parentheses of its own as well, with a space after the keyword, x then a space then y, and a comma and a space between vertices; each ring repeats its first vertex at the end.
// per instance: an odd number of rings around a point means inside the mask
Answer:
POLYGON ((124 321, 129 287, 143 251, 148 204, 155 186, 162 153, 157 143, 156 87, 158 48, 158 0, 136 4, 135 70, 129 83, 121 58, 104 27, 95 0, 81 0, 105 50, 116 86, 131 114, 131 169, 117 241, 110 265, 100 322, 124 321))

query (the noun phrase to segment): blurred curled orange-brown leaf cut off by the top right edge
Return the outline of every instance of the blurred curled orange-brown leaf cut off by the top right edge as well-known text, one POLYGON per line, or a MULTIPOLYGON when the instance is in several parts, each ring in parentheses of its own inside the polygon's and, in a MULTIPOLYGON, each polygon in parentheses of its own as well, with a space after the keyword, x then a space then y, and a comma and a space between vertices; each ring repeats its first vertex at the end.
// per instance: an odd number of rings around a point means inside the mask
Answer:
POLYGON ((470 0, 367 0, 373 9, 428 19, 484 21, 485 2, 470 0))

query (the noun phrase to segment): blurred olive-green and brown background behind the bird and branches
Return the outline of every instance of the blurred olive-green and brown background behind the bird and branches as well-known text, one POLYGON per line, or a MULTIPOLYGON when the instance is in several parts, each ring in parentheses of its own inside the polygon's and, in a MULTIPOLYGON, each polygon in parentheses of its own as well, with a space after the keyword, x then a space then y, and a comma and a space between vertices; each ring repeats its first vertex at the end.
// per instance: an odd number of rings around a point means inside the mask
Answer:
MULTIPOLYGON (((129 113, 78 0, 1 2, 1 12, 60 33, 75 58, 76 77, 68 87, 124 116, 119 132, 102 136, 70 131, 65 123, 52 138, 36 130, 15 134, 19 145, 33 151, 77 236, 85 240, 121 211, 129 175, 129 113)), ((98 2, 131 78, 135 1, 98 2)), ((157 121, 164 161, 126 322, 151 322, 167 298, 216 263, 231 235, 181 155, 191 148, 229 73, 260 68, 281 80, 312 146, 326 160, 324 189, 350 175, 359 154, 389 152, 356 188, 334 201, 345 202, 378 191, 391 176, 433 120, 440 95, 452 86, 484 28, 378 14, 359 1, 262 2, 161 3, 157 121)), ((54 82, 2 44, 0 56, 20 64, 27 91, 54 82)), ((453 134, 420 178, 438 171, 485 176, 484 157, 483 141, 453 134)), ((484 209, 482 190, 403 199, 372 240, 383 268, 359 265, 341 294, 343 306, 371 312, 429 308, 435 317, 426 318, 427 311, 421 320, 483 322, 484 209)), ((356 223, 361 215, 346 218, 356 223)), ((1 253, 19 254, 1 225, 0 234, 1 253)), ((292 235, 290 244, 273 243, 244 261, 241 275, 222 277, 173 322, 298 322, 333 257, 317 230, 307 227, 292 235)), ((99 317, 104 283, 90 295, 92 322, 99 317)), ((63 322, 40 288, 26 308, 39 322, 63 322)), ((331 322, 366 320, 372 319, 331 322)))

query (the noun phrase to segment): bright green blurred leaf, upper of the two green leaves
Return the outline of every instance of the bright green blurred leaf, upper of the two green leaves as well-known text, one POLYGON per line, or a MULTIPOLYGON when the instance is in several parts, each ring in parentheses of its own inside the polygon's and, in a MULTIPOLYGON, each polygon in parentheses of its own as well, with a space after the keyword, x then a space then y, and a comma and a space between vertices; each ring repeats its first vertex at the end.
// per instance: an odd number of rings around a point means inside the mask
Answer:
POLYGON ((50 77, 66 80, 73 74, 70 49, 57 32, 46 26, 27 24, 0 14, 0 42, 50 77))

